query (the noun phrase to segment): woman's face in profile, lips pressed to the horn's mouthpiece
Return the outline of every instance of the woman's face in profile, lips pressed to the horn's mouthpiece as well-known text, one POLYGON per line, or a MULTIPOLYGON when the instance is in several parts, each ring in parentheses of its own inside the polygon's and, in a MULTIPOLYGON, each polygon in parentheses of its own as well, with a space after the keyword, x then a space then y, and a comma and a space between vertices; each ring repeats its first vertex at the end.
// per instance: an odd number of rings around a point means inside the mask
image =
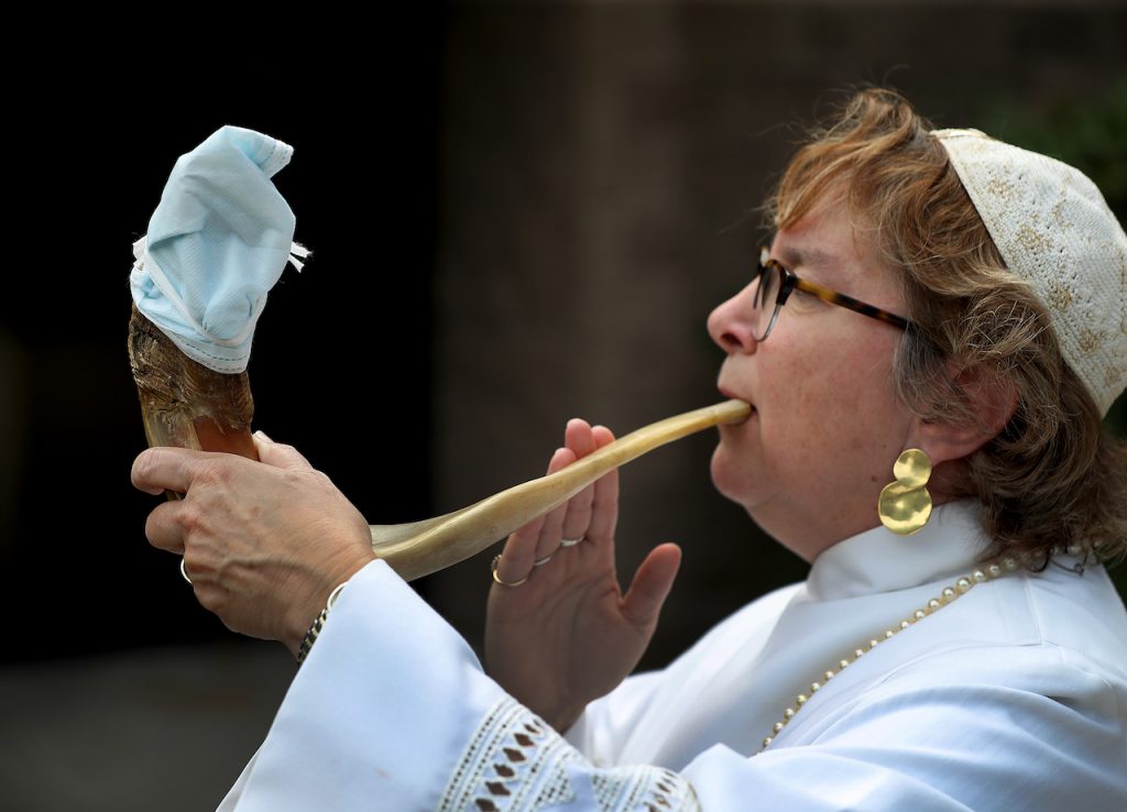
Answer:
MULTIPOLYGON (((905 314, 891 271, 846 206, 823 200, 775 237, 771 256, 793 274, 905 314)), ((900 330, 796 291, 771 334, 752 337, 749 285, 718 306, 709 333, 727 353, 719 389, 752 417, 720 427, 717 489, 808 561, 875 527, 912 416, 895 395, 900 330)))

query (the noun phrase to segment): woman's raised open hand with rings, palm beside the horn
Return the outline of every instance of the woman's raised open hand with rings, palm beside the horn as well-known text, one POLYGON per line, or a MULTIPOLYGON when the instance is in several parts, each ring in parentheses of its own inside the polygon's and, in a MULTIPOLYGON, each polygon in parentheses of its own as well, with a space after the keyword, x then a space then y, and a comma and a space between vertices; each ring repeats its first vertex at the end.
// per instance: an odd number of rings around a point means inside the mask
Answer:
MULTIPOLYGON (((571 420, 548 472, 613 440, 602 426, 571 420)), ((681 563, 675 544, 657 546, 622 595, 614 569, 618 503, 612 471, 511 535, 496 563, 503 583, 489 592, 488 671, 559 731, 638 664, 681 563)))

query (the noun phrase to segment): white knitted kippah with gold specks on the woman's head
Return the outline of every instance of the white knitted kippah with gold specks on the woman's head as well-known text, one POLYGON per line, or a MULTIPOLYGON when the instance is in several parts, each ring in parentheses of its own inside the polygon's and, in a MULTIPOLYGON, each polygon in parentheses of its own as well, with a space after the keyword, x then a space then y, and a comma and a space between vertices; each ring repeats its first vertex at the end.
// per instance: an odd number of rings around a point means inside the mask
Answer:
POLYGON ((1006 267, 1045 304, 1061 351, 1107 414, 1127 387, 1127 235, 1066 163, 977 130, 937 130, 1006 267))

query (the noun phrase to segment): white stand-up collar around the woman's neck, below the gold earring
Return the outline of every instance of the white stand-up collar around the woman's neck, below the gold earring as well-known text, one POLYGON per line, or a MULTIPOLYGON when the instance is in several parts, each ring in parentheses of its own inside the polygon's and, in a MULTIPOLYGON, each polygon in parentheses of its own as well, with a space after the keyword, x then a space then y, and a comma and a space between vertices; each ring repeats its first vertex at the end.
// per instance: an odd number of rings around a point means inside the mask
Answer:
POLYGON ((978 503, 962 499, 935 508, 913 536, 878 525, 837 542, 814 561, 806 592, 816 601, 836 600, 965 574, 987 544, 978 517, 978 503))

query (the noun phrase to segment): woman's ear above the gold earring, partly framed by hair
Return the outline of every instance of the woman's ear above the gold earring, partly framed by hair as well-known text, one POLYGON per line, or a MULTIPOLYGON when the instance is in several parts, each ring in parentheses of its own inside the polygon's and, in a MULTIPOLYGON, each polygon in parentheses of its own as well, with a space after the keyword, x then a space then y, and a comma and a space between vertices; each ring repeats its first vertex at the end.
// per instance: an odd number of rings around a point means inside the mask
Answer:
POLYGON ((970 414, 924 421, 913 420, 908 448, 922 448, 933 465, 970 456, 992 440, 1013 417, 1018 393, 1009 376, 979 365, 952 376, 970 414))

